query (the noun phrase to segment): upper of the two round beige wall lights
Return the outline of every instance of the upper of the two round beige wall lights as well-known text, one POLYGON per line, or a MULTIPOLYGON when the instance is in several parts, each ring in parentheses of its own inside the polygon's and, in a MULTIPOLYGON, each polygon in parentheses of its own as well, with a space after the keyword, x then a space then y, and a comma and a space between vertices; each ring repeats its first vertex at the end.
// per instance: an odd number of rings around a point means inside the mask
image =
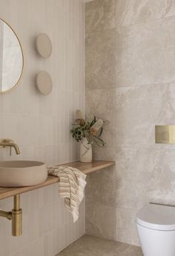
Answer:
POLYGON ((47 59, 52 54, 52 42, 50 38, 41 33, 36 38, 36 50, 38 51, 39 55, 42 56, 44 59, 47 59))

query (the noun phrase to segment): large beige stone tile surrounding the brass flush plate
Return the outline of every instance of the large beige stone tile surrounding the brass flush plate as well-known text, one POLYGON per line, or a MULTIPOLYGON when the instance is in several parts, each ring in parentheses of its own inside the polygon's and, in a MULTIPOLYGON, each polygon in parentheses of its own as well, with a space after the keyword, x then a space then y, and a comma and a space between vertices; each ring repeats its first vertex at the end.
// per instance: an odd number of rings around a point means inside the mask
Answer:
POLYGON ((155 144, 155 125, 175 118, 174 84, 116 89, 116 145, 129 148, 174 148, 155 144))

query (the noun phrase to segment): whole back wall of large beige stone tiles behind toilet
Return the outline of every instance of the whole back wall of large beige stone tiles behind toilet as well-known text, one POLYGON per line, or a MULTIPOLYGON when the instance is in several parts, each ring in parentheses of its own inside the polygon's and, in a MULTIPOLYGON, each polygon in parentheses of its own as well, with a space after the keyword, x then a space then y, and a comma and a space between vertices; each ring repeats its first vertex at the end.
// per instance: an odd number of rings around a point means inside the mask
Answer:
POLYGON ((175 3, 95 0, 85 23, 87 115, 108 120, 94 156, 116 160, 88 177, 87 233, 139 244, 136 212, 175 205, 175 146, 154 143, 154 125, 174 124, 175 3))

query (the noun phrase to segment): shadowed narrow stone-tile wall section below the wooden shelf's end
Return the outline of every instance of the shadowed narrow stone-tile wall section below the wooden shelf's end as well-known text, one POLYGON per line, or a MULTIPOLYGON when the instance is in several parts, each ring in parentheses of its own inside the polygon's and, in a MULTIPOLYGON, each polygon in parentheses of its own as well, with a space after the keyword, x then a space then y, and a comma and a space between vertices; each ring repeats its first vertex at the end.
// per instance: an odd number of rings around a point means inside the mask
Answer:
POLYGON ((116 240, 115 203, 115 166, 88 175, 86 187, 87 234, 116 240))

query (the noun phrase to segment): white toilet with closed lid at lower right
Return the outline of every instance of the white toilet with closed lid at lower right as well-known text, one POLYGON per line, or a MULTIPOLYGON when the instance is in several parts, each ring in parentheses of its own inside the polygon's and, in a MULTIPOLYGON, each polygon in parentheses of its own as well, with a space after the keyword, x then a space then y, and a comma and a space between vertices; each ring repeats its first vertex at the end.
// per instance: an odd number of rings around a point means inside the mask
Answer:
POLYGON ((136 214, 144 256, 175 256, 175 207, 149 204, 136 214))

